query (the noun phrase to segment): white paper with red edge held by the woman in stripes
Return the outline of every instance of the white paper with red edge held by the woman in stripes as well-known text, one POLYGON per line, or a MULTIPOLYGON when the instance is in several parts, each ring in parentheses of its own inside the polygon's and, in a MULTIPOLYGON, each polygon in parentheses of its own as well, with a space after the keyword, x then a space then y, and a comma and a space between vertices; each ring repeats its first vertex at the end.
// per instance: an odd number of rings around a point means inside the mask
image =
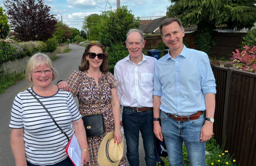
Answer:
POLYGON ((76 166, 81 166, 81 153, 82 149, 74 133, 68 146, 68 156, 76 166))

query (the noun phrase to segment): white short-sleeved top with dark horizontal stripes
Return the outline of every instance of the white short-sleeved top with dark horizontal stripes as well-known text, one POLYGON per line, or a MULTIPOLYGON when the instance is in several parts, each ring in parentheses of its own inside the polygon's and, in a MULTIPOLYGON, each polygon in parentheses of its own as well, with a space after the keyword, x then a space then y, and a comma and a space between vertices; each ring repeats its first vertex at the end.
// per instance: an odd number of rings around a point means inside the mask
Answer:
MULTIPOLYGON (((66 134, 74 133, 72 121, 82 118, 70 92, 58 90, 43 97, 29 90, 43 103, 66 134)), ((67 137, 60 132, 43 106, 27 91, 20 92, 11 109, 10 128, 24 128, 26 159, 32 164, 55 164, 67 157, 67 137)))

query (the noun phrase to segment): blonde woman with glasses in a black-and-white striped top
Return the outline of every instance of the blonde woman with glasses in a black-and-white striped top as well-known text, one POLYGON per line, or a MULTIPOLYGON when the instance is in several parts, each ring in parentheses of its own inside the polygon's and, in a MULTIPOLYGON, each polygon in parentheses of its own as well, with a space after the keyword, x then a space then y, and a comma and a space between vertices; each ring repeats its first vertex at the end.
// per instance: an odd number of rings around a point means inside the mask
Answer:
POLYGON ((73 166, 65 152, 76 134, 81 146, 81 165, 89 161, 82 116, 70 92, 52 84, 57 71, 42 53, 33 55, 26 79, 32 87, 20 92, 11 109, 11 148, 16 166, 73 166))

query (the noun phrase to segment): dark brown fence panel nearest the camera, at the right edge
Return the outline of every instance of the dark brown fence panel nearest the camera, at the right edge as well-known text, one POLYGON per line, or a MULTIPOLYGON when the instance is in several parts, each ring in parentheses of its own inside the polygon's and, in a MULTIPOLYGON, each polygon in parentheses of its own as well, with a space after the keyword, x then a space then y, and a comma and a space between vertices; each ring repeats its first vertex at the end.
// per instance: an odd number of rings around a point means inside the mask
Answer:
POLYGON ((256 165, 255 83, 255 73, 232 71, 225 150, 234 154, 241 166, 256 165))

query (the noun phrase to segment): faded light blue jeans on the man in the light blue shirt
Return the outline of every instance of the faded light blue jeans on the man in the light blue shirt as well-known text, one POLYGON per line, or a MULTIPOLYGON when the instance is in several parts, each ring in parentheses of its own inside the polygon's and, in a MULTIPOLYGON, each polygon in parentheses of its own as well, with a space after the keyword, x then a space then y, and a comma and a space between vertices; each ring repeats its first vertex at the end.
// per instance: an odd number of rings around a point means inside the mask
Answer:
POLYGON ((170 162, 169 166, 183 166, 183 141, 188 151, 190 165, 205 166, 206 142, 200 142, 204 114, 199 119, 192 121, 175 121, 162 112, 161 124, 170 162))

